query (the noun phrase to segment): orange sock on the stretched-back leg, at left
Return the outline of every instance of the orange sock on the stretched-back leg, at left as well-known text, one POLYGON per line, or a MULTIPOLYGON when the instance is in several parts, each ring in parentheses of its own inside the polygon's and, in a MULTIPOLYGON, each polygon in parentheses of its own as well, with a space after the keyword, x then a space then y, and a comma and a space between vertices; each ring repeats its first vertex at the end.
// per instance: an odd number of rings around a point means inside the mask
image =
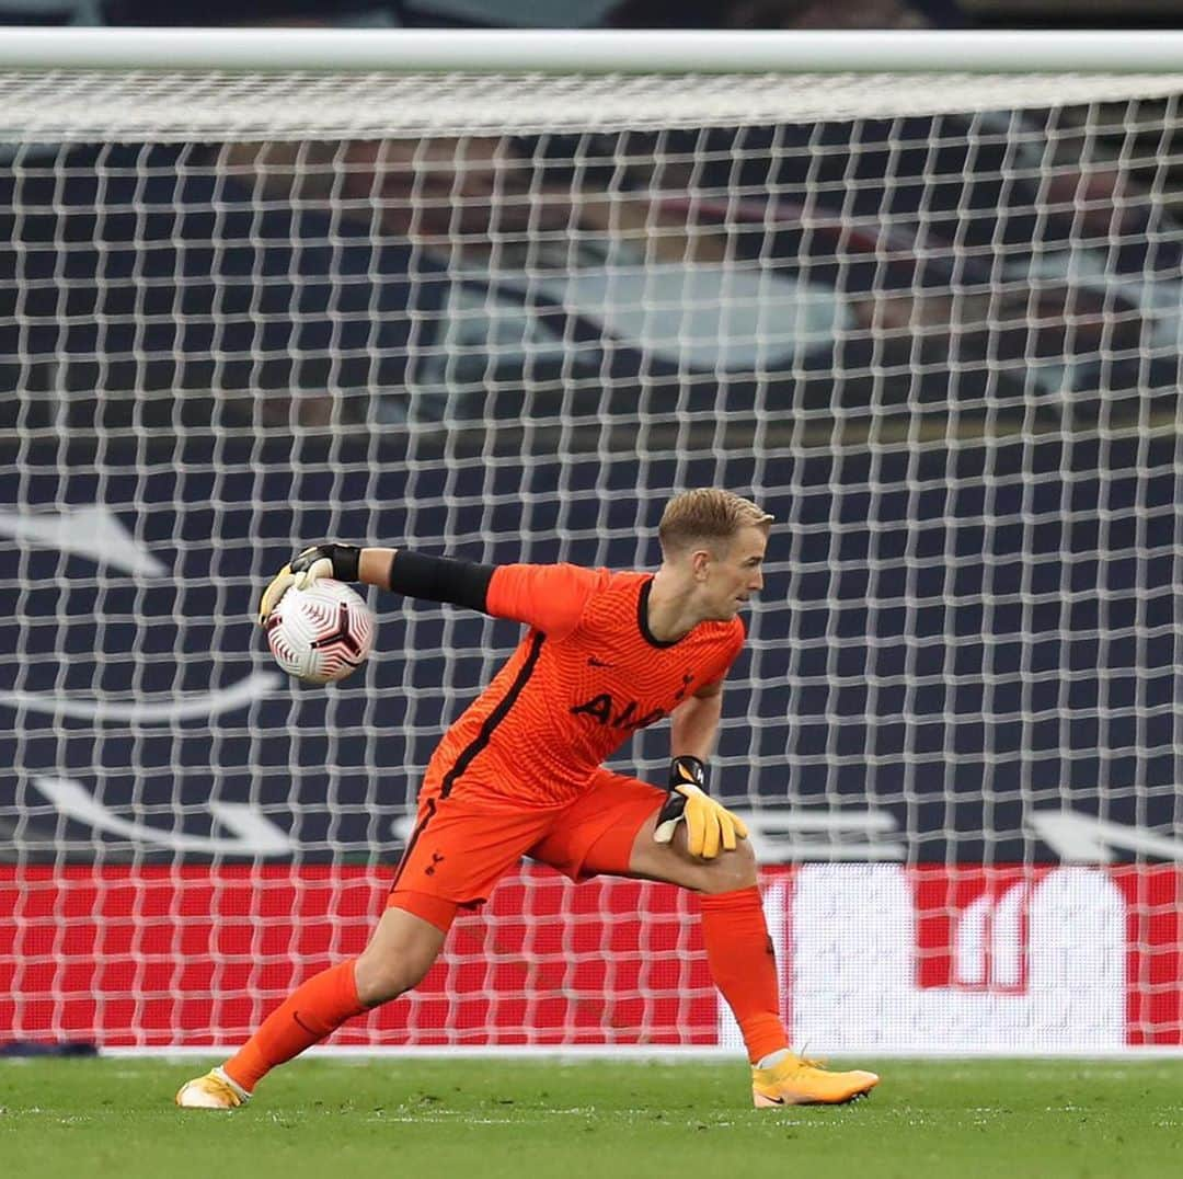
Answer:
POLYGON ((222 1068, 250 1093, 277 1064, 298 1056, 366 1010, 357 999, 354 959, 341 962, 292 991, 222 1068))

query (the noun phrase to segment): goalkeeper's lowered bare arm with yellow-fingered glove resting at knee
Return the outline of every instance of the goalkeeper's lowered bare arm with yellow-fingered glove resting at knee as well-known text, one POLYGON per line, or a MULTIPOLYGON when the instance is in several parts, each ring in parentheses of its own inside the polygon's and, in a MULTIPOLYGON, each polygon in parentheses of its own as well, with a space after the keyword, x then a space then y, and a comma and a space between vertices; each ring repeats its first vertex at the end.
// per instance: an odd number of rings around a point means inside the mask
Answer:
POLYGON ((722 709, 722 684, 715 684, 683 701, 671 714, 670 799, 653 832, 658 843, 670 843, 684 822, 686 848, 700 859, 735 851, 738 840, 748 838, 743 820, 706 793, 706 759, 715 747, 722 709))

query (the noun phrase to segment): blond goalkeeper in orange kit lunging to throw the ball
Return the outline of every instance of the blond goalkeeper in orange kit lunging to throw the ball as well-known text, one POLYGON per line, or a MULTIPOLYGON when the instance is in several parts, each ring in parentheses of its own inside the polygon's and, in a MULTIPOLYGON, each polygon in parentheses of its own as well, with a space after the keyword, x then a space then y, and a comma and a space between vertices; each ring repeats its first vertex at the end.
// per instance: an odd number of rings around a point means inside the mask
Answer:
POLYGON ((743 1033, 756 1106, 838 1103, 873 1088, 873 1072, 833 1072, 789 1050, 746 831, 706 792, 723 681, 744 639, 738 614, 763 586, 771 518, 729 491, 678 495, 661 517, 655 574, 335 543, 293 558, 267 586, 260 620, 289 586, 331 576, 529 630, 432 756, 366 949, 297 987, 221 1068, 185 1084, 177 1104, 240 1106, 277 1064, 409 991, 457 911, 481 904, 524 855, 573 880, 631 876, 699 895, 707 964, 743 1033), (667 790, 602 767, 665 716, 667 790))

